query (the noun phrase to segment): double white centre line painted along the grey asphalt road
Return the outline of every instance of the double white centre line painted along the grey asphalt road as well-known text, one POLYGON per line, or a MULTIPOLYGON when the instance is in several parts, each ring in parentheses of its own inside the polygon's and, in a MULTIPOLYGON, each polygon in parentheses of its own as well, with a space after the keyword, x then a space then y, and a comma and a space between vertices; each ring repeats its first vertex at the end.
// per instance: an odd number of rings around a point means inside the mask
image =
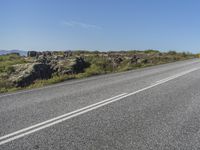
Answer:
POLYGON ((0 145, 3 145, 3 144, 5 144, 5 143, 8 143, 8 142, 13 141, 13 140, 15 140, 15 139, 24 137, 24 136, 29 135, 29 134, 31 134, 31 133, 34 133, 34 132, 36 132, 36 131, 39 131, 39 130, 48 128, 48 127, 50 127, 50 126, 52 126, 52 125, 61 123, 61 122, 65 121, 65 120, 68 120, 68 119, 70 119, 70 118, 73 118, 73 117, 79 116, 79 115, 81 115, 81 114, 87 113, 87 112, 89 112, 89 111, 92 111, 92 110, 94 110, 94 109, 100 108, 100 107, 105 106, 105 105, 108 105, 108 104, 110 104, 110 103, 119 101, 119 100, 121 100, 121 99, 123 99, 123 98, 125 98, 125 97, 128 97, 128 96, 131 96, 131 95, 140 93, 140 92, 142 92, 142 91, 145 91, 145 90, 150 89, 150 88, 152 88, 152 87, 155 87, 155 86, 157 86, 157 85, 163 84, 163 83, 165 83, 165 82, 171 81, 171 80, 173 80, 173 79, 176 79, 176 78, 181 77, 181 76, 183 76, 183 75, 186 75, 186 74, 188 74, 188 73, 191 73, 191 72, 193 72, 193 71, 196 71, 196 70, 198 70, 198 69, 199 69, 199 68, 190 69, 190 70, 188 70, 188 71, 185 71, 185 72, 176 74, 176 75, 171 76, 171 77, 169 77, 169 78, 160 80, 159 82, 156 82, 156 83, 153 84, 153 85, 150 85, 150 86, 148 86, 148 87, 142 88, 142 89, 137 90, 137 91, 135 91, 135 92, 132 92, 132 93, 129 93, 129 94, 123 93, 123 94, 117 95, 117 96, 115 96, 115 97, 112 97, 112 98, 103 100, 103 101, 101 101, 101 102, 98 102, 98 103, 95 103, 95 104, 86 106, 86 107, 81 108, 81 109, 78 109, 78 110, 75 110, 75 111, 73 111, 73 112, 70 112, 70 113, 67 113, 67 114, 58 116, 58 117, 56 117, 56 118, 53 118, 53 119, 50 119, 50 120, 41 122, 41 123, 39 123, 39 124, 30 126, 30 127, 28 127, 28 128, 24 128, 24 129, 22 129, 22 130, 18 130, 18 131, 16 131, 16 132, 7 134, 7 135, 5 135, 5 136, 0 137, 0 145))

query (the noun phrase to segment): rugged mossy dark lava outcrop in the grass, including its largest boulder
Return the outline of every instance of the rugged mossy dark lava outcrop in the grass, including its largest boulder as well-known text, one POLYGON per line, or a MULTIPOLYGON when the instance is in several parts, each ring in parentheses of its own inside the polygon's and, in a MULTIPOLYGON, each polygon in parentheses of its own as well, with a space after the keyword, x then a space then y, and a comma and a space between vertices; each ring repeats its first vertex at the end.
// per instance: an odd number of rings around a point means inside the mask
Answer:
POLYGON ((57 60, 40 55, 34 63, 14 65, 15 71, 10 75, 9 81, 16 87, 24 87, 38 79, 49 79, 53 73, 76 74, 83 72, 88 66, 82 57, 57 60))

